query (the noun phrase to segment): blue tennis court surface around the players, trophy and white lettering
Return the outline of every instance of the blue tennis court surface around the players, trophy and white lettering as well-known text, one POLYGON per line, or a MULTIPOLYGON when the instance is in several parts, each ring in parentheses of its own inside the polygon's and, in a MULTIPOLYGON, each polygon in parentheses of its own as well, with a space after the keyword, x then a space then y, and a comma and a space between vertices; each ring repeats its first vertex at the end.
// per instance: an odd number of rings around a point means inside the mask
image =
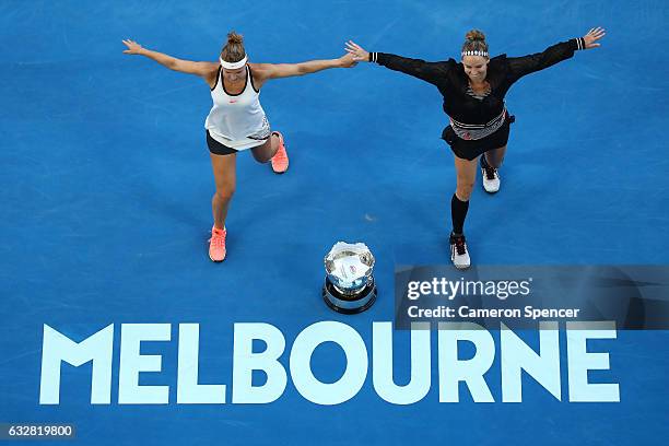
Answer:
MULTIPOLYGON (((375 390, 373 330, 394 320, 396 266, 449 263, 455 168, 434 86, 373 63, 268 82, 262 106, 291 167, 275 175, 238 154, 227 258, 213 263, 208 86, 124 55, 121 39, 214 61, 235 30, 254 62, 337 58, 348 39, 445 60, 458 58, 471 28, 485 32, 492 54, 523 56, 603 26, 601 48, 507 95, 516 122, 502 189, 490 196, 477 183, 470 200, 472 262, 667 265, 668 20, 669 3, 649 0, 0 3, 0 423, 71 423, 82 445, 661 442, 667 331, 588 342, 610 359, 589 379, 619 384, 620 402, 570 401, 563 331, 562 401, 526 374, 523 401, 503 402, 497 350, 485 374, 495 402, 476 402, 465 385, 459 402, 439 402, 436 332, 424 398, 394 404, 375 390), (376 257, 378 300, 357 315, 321 300, 324 256, 338 240, 364 242, 376 257), (368 354, 360 390, 334 404, 309 401, 291 374, 292 345, 324 321, 355 330, 368 354), (137 324, 157 330, 141 354, 160 359, 139 386, 162 388, 166 403, 119 401, 121 337, 137 324), (226 385, 224 404, 178 403, 180 324, 198 325, 196 376, 226 385), (271 402, 234 402, 235 336, 245 324, 272 326, 285 341, 278 362, 287 379, 271 402), (113 349, 108 403, 91 402, 91 362, 63 363, 58 403, 40 403, 45 326, 74 342, 111 326, 111 343, 101 344, 113 349)), ((500 332, 491 334, 497 342, 500 332)), ((407 384, 410 334, 392 336, 394 377, 407 384)), ((524 338, 538 344, 537 332, 524 338)), ((310 367, 336 383, 347 355, 326 342, 310 367)), ((253 385, 270 378, 256 371, 253 385)))

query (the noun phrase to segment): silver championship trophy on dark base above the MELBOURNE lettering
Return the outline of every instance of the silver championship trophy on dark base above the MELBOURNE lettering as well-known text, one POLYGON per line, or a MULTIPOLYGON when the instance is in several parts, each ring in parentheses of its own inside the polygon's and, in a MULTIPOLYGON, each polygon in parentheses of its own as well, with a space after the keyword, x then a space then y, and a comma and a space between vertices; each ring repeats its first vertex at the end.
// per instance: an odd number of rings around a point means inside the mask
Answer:
POLYGON ((338 242, 325 257, 322 298, 339 313, 361 313, 376 301, 374 256, 364 243, 338 242))

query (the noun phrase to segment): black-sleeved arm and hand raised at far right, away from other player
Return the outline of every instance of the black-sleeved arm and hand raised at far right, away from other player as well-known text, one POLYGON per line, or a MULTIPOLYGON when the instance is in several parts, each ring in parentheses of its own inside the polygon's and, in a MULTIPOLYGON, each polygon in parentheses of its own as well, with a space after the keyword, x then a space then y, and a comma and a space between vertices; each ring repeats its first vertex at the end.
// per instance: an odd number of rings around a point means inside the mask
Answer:
POLYGON ((537 52, 524 57, 512 57, 508 58, 509 71, 514 80, 518 80, 521 77, 533 73, 536 71, 543 70, 554 66, 558 62, 570 59, 574 56, 574 51, 579 49, 597 48, 601 44, 597 40, 606 35, 605 30, 601 27, 592 28, 583 37, 573 38, 567 42, 548 47, 543 52, 537 52))

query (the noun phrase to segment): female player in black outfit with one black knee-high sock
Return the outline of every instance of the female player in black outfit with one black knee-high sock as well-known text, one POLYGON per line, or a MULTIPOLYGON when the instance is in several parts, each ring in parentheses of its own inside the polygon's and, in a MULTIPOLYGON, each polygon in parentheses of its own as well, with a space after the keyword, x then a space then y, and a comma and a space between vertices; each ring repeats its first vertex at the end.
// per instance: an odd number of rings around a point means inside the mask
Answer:
POLYGON ((470 266, 462 227, 477 176, 477 159, 481 154, 484 189, 491 193, 500 189, 497 168, 504 160, 509 125, 514 121, 504 104, 506 92, 526 74, 570 59, 578 49, 600 46, 597 40, 603 36, 605 31, 597 27, 584 37, 553 45, 543 52, 524 57, 501 55, 491 59, 485 36, 472 30, 465 37, 460 62, 454 59, 426 62, 386 52, 367 52, 353 42, 347 43, 347 50, 354 60, 376 62, 422 79, 444 95, 444 111, 450 125, 444 129, 442 138, 455 154, 457 172, 456 192, 450 200, 450 259, 456 268, 470 266))

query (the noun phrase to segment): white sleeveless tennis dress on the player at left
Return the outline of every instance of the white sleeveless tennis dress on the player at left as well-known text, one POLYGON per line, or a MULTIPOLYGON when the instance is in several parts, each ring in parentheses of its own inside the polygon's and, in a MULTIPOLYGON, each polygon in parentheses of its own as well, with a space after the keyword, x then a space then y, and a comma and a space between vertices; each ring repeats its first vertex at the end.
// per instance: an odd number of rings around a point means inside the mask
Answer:
POLYGON ((260 105, 260 92, 256 90, 250 68, 246 66, 246 83, 239 94, 225 91, 221 67, 216 83, 211 89, 213 106, 204 121, 204 128, 215 141, 235 150, 260 145, 270 137, 270 125, 260 105))

